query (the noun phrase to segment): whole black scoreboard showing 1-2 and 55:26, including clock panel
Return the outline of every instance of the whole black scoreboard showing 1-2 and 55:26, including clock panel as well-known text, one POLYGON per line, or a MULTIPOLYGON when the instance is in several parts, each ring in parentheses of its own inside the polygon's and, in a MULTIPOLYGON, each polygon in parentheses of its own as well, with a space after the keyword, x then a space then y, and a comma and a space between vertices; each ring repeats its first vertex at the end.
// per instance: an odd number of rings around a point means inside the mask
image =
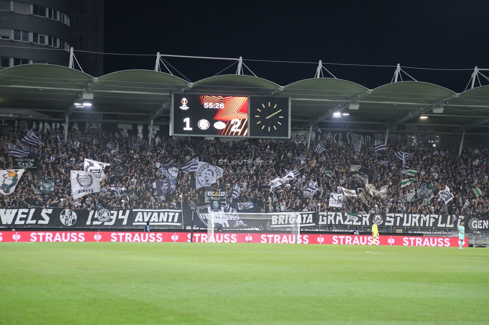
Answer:
POLYGON ((290 138, 290 98, 173 93, 170 135, 290 138))

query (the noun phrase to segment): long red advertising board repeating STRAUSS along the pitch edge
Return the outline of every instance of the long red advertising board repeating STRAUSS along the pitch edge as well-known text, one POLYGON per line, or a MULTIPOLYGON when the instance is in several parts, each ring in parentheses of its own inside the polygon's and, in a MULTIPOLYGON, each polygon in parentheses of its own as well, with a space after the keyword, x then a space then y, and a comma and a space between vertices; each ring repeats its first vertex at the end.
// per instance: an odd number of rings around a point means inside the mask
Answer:
MULTIPOLYGON (((2 231, 0 242, 190 242, 190 232, 123 231, 2 231)), ((194 232, 193 242, 302 243, 333 245, 390 245, 458 247, 458 237, 380 236, 342 234, 275 234, 194 232)), ((468 246, 465 239, 463 246, 468 246)))

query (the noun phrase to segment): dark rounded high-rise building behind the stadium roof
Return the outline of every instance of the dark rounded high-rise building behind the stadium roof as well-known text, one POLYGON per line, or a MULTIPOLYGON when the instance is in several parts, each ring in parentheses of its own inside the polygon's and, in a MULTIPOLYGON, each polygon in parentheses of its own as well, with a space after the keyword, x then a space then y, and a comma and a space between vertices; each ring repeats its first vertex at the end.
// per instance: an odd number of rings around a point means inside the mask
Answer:
POLYGON ((70 47, 84 72, 103 75, 103 0, 0 0, 0 68, 68 66, 70 47))

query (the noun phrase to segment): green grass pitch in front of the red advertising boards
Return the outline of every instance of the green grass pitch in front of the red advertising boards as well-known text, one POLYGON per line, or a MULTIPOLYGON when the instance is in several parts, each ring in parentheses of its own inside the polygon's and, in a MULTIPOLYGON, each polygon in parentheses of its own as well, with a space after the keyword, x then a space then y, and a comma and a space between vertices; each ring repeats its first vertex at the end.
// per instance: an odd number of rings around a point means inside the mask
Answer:
POLYGON ((0 323, 489 322, 489 249, 0 243, 0 323))

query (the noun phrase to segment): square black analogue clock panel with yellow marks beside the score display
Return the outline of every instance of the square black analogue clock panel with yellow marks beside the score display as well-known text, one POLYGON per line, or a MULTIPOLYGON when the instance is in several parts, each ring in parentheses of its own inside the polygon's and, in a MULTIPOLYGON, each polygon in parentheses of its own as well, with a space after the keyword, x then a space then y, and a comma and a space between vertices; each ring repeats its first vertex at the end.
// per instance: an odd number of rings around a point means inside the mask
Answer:
POLYGON ((250 129, 253 136, 289 137, 289 98, 252 97, 250 129))

